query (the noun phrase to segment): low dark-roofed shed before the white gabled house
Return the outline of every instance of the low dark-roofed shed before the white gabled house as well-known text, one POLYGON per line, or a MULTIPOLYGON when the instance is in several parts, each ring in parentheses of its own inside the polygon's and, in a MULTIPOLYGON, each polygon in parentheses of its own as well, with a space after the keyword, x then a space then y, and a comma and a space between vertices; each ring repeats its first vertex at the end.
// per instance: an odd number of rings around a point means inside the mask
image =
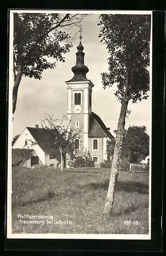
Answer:
POLYGON ((31 168, 34 164, 41 164, 34 150, 29 148, 12 148, 12 166, 20 165, 31 168))

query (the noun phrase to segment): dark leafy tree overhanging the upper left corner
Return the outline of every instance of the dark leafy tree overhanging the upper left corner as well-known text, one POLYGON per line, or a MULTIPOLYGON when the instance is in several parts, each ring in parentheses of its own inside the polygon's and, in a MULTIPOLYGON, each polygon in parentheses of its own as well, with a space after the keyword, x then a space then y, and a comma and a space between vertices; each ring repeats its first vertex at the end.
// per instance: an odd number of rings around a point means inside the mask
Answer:
POLYGON ((65 61, 76 34, 68 34, 73 26, 80 28, 85 15, 59 13, 13 13, 13 114, 22 76, 41 79, 45 69, 53 69, 56 62, 65 61), (50 61, 53 58, 54 61, 50 61))

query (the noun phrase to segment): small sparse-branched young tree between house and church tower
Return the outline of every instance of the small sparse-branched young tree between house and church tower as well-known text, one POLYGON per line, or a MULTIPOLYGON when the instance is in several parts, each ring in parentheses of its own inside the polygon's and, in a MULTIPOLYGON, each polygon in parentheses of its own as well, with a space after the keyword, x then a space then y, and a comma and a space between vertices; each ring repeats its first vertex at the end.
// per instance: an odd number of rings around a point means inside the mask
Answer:
MULTIPOLYGON (((54 116, 54 115, 53 115, 54 116)), ((67 120, 65 127, 63 116, 62 120, 53 119, 53 116, 46 114, 45 119, 41 121, 42 129, 45 131, 44 139, 41 143, 52 148, 58 148, 61 156, 61 171, 63 172, 63 153, 68 153, 71 159, 75 158, 76 139, 80 139, 79 132, 72 128, 70 120, 67 120)), ((76 149, 77 151, 77 149, 76 149)))

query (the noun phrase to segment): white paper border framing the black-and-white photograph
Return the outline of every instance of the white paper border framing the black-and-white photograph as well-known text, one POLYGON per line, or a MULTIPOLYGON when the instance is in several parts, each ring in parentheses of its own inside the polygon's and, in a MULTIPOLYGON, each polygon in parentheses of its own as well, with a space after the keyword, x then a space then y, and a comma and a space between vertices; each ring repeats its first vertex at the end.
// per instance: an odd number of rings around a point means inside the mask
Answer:
MULTIPOLYGON (((80 14, 143 14, 151 15, 151 42, 150 42, 150 96, 152 99, 152 11, 101 11, 101 10, 10 10, 10 40, 9 40, 9 120, 8 120, 8 175, 7 175, 7 238, 11 239, 127 239, 127 240, 150 240, 151 239, 151 130, 150 130, 150 172, 149 172, 149 234, 12 234, 11 195, 12 195, 12 172, 11 172, 11 148, 12 148, 12 84, 13 84, 13 13, 80 13, 80 14)), ((82 97, 81 97, 82 98, 82 97)), ((150 127, 152 125, 152 100, 150 105, 150 127)), ((152 129, 152 127, 151 127, 152 129)))

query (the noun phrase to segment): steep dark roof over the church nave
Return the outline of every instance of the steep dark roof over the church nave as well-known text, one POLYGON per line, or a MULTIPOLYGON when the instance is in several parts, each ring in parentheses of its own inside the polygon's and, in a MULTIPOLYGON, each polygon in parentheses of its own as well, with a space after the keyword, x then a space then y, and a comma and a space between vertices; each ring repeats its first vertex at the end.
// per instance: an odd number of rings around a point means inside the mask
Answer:
POLYGON ((99 137, 108 137, 113 139, 113 135, 108 131, 102 119, 97 115, 91 112, 89 116, 89 138, 99 138, 99 137))

